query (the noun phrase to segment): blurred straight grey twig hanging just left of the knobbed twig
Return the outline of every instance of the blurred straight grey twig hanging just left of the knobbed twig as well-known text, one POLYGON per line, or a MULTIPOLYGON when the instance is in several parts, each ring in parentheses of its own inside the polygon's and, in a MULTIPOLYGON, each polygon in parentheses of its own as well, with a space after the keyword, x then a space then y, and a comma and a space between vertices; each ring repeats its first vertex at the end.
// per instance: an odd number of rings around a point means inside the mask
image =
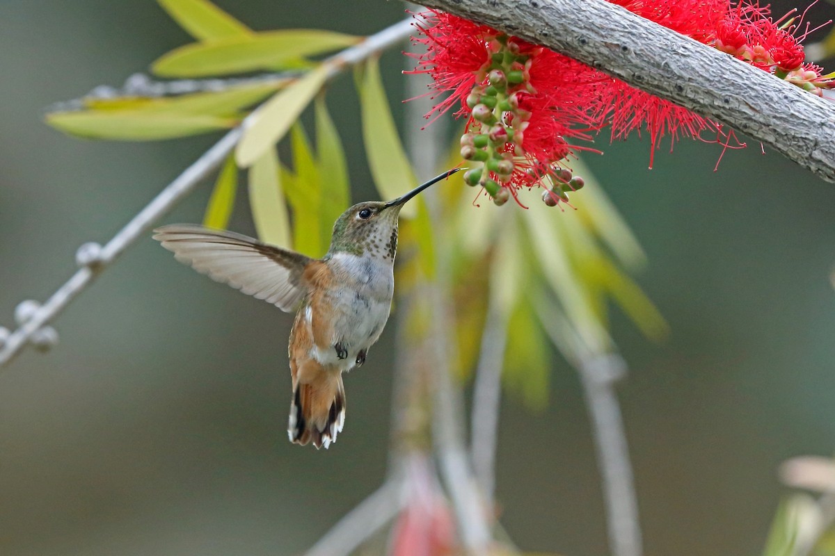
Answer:
MULTIPOLYGON (((502 284, 504 287, 506 284, 502 284)), ((496 435, 502 398, 502 364, 508 340, 507 318, 495 303, 487 309, 481 350, 473 386, 473 412, 470 423, 470 452, 473 470, 484 494, 484 503, 493 507, 496 483, 496 435)))

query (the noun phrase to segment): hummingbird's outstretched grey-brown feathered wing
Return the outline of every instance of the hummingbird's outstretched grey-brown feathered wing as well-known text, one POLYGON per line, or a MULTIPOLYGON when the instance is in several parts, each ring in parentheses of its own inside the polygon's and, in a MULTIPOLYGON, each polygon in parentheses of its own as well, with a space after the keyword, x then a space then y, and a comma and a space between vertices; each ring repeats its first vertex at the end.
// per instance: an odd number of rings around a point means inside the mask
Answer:
POLYGON ((304 271, 314 259, 240 233, 172 224, 156 228, 154 239, 180 263, 282 311, 296 310, 309 288, 304 271))

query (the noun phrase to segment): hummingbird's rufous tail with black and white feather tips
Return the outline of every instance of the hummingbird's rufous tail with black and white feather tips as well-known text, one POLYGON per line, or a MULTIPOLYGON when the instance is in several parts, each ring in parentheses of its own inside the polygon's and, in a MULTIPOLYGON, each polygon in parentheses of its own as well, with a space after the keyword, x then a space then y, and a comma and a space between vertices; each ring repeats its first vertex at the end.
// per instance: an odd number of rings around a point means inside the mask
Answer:
POLYGON ((290 403, 287 435, 291 442, 313 442, 316 448, 337 441, 345 423, 345 387, 342 373, 322 373, 315 383, 297 383, 290 403))

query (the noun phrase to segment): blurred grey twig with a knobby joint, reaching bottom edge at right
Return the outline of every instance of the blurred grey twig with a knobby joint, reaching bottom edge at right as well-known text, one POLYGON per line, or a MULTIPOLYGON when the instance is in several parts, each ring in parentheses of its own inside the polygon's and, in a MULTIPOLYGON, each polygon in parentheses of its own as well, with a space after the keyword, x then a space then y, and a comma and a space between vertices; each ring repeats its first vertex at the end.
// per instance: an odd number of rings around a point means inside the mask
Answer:
POLYGON ((547 303, 535 306, 545 332, 577 369, 583 383, 602 475, 612 554, 640 556, 643 548, 635 479, 614 388, 615 382, 625 376, 626 364, 617 353, 592 353, 559 313, 545 309, 547 303))

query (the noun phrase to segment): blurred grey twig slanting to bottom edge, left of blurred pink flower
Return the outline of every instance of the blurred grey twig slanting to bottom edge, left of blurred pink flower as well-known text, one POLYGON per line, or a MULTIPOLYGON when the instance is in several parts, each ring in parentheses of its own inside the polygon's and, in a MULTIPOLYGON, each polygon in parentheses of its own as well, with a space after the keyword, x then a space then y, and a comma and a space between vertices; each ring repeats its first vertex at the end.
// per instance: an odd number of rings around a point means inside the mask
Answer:
POLYGON ((371 538, 392 520, 406 501, 402 479, 389 479, 375 493, 346 513, 307 551, 306 556, 342 556, 371 538))

